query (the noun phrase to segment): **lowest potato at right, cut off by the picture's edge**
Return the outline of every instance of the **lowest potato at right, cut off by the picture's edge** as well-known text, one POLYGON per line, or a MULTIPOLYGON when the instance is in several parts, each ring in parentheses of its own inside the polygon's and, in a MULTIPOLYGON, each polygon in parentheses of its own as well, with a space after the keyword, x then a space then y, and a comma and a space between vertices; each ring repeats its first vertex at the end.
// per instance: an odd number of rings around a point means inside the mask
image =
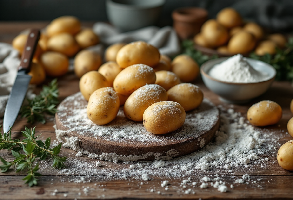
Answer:
POLYGON ((286 142, 280 147, 277 159, 282 168, 293 171, 293 140, 286 142))

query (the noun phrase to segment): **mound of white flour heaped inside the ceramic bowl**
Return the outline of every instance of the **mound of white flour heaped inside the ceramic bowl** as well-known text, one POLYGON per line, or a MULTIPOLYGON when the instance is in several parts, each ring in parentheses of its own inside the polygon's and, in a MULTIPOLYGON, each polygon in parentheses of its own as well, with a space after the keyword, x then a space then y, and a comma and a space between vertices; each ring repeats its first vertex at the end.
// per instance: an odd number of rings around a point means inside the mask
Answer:
POLYGON ((214 65, 208 74, 220 81, 233 83, 253 83, 268 79, 268 74, 255 70, 241 54, 214 65))

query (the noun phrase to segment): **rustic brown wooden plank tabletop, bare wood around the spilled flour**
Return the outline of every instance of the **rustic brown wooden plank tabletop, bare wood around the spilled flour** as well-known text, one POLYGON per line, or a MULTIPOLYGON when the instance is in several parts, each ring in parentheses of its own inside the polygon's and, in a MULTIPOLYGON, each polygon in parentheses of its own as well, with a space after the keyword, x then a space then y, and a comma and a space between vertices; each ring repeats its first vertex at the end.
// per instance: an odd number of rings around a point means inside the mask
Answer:
MULTIPOLYGON (((30 22, 30 23, 0 23, 0 42, 11 42, 12 39, 21 30, 29 27, 45 27, 47 22, 30 22)), ((92 23, 86 23, 85 26, 90 26, 92 23)), ((48 82, 48 81, 47 81, 48 82)), ((74 74, 67 74, 60 77, 59 84, 59 100, 63 100, 65 97, 78 92, 78 78, 74 74)), ((205 97, 209 98, 214 104, 223 104, 225 108, 231 108, 231 105, 224 104, 219 101, 218 96, 210 92, 202 83, 201 80, 195 82, 204 91, 205 97)), ((289 110, 290 101, 293 98, 292 85, 289 82, 274 82, 272 87, 264 95, 253 99, 253 101, 244 105, 233 105, 235 111, 241 112, 243 116, 246 116, 247 109, 253 104, 261 100, 272 100, 280 104, 283 109, 283 117, 277 125, 266 127, 274 134, 278 135, 287 132, 287 122, 292 117, 289 110)), ((0 124, 2 120, 0 121, 0 124)), ((40 123, 27 124, 25 119, 20 117, 17 119, 13 126, 13 137, 21 138, 21 130, 24 129, 24 125, 36 126, 38 133, 42 133, 44 138, 51 137, 51 140, 56 139, 53 126, 53 120, 49 120, 46 124, 40 123)), ((286 135, 285 138, 279 140, 280 144, 284 144, 286 141, 292 139, 290 135, 286 135)), ((76 152, 71 149, 64 149, 60 153, 62 156, 68 158, 74 158, 76 152)), ((1 150, 0 156, 7 161, 13 160, 11 152, 7 150, 1 150)), ((86 156, 80 157, 82 161, 93 162, 91 158, 86 156)), ((105 167, 113 167, 113 163, 101 161, 105 167)), ((211 171, 205 172, 207 175, 214 174, 211 171)), ((246 170, 238 170, 234 173, 235 176, 242 177, 246 173, 246 170)), ((53 170, 48 170, 40 177, 38 186, 28 187, 24 184, 23 174, 15 173, 11 170, 6 173, 0 173, 0 199, 290 199, 293 198, 293 173, 282 169, 278 163, 276 155, 270 157, 268 166, 265 170, 256 166, 254 170, 249 173, 251 177, 261 178, 261 188, 255 187, 255 185, 239 184, 234 189, 230 189, 226 193, 220 193, 213 187, 207 189, 195 188, 195 194, 184 194, 178 192, 178 188, 170 187, 168 191, 165 191, 161 187, 161 181, 169 180, 174 186, 179 186, 181 180, 171 179, 170 177, 150 177, 151 180, 147 181, 143 185, 140 185, 139 180, 127 179, 117 180, 115 177, 112 180, 104 180, 102 175, 91 176, 91 182, 75 183, 69 182, 72 177, 56 176, 53 170), (103 186, 102 186, 103 185, 103 186), (83 188, 89 187, 89 192, 86 194, 82 192, 83 188), (156 187, 161 194, 150 192, 150 187, 156 187), (53 196, 54 190, 57 189, 56 195, 53 196), (78 195, 81 192, 81 195, 78 195)), ((229 178, 230 175, 224 175, 222 180, 225 180, 226 185, 230 185, 233 181, 229 178)), ((192 177, 198 179, 201 177, 192 177)))

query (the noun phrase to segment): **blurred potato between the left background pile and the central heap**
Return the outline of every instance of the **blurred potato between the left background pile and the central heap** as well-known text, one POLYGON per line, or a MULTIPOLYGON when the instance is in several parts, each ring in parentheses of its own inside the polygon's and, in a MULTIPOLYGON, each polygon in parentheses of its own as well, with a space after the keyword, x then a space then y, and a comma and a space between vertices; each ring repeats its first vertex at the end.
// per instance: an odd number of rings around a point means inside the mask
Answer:
POLYGON ((80 78, 89 71, 98 70, 101 64, 102 58, 100 54, 94 51, 82 50, 74 58, 74 73, 80 78))

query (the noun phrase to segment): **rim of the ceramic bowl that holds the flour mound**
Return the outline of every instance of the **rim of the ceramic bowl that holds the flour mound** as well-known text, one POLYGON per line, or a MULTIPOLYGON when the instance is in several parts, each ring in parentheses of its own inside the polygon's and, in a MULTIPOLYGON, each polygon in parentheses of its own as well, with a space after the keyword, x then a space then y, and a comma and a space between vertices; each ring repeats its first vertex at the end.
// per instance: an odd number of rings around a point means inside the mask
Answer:
POLYGON ((229 84, 229 85, 251 85, 251 84, 261 84, 261 83, 270 82, 270 81, 274 80, 275 77, 276 77, 276 75, 277 75, 277 71, 276 71, 276 69, 275 69, 272 65, 270 65, 269 63, 263 62, 263 61, 259 61, 259 60, 253 59, 253 58, 247 58, 247 59, 249 59, 249 60, 253 60, 253 61, 258 61, 258 62, 261 62, 261 63, 265 63, 266 66, 268 66, 268 67, 270 67, 271 69, 273 69, 273 71, 274 71, 274 75, 273 75, 270 79, 268 79, 268 80, 264 80, 264 81, 260 81, 260 82, 252 82, 252 83, 233 83, 233 82, 221 81, 221 80, 218 80, 218 79, 216 79, 216 78, 214 78, 214 77, 211 77, 210 75, 208 75, 208 74, 203 70, 203 68, 204 68, 207 64, 209 64, 210 62, 212 62, 212 61, 214 61, 214 60, 217 60, 217 59, 223 59, 223 61, 225 61, 225 60, 226 60, 225 58, 228 59, 228 58, 231 58, 231 56, 230 56, 230 57, 222 57, 222 58, 214 58, 214 59, 211 59, 211 60, 209 60, 209 61, 206 61, 206 62, 203 63, 203 64, 201 65, 201 67, 200 67, 200 74, 201 74, 201 75, 204 75, 205 77, 207 77, 207 78, 209 78, 209 79, 211 79, 211 80, 214 80, 214 81, 216 81, 216 82, 221 82, 221 83, 225 83, 225 84, 229 84))

